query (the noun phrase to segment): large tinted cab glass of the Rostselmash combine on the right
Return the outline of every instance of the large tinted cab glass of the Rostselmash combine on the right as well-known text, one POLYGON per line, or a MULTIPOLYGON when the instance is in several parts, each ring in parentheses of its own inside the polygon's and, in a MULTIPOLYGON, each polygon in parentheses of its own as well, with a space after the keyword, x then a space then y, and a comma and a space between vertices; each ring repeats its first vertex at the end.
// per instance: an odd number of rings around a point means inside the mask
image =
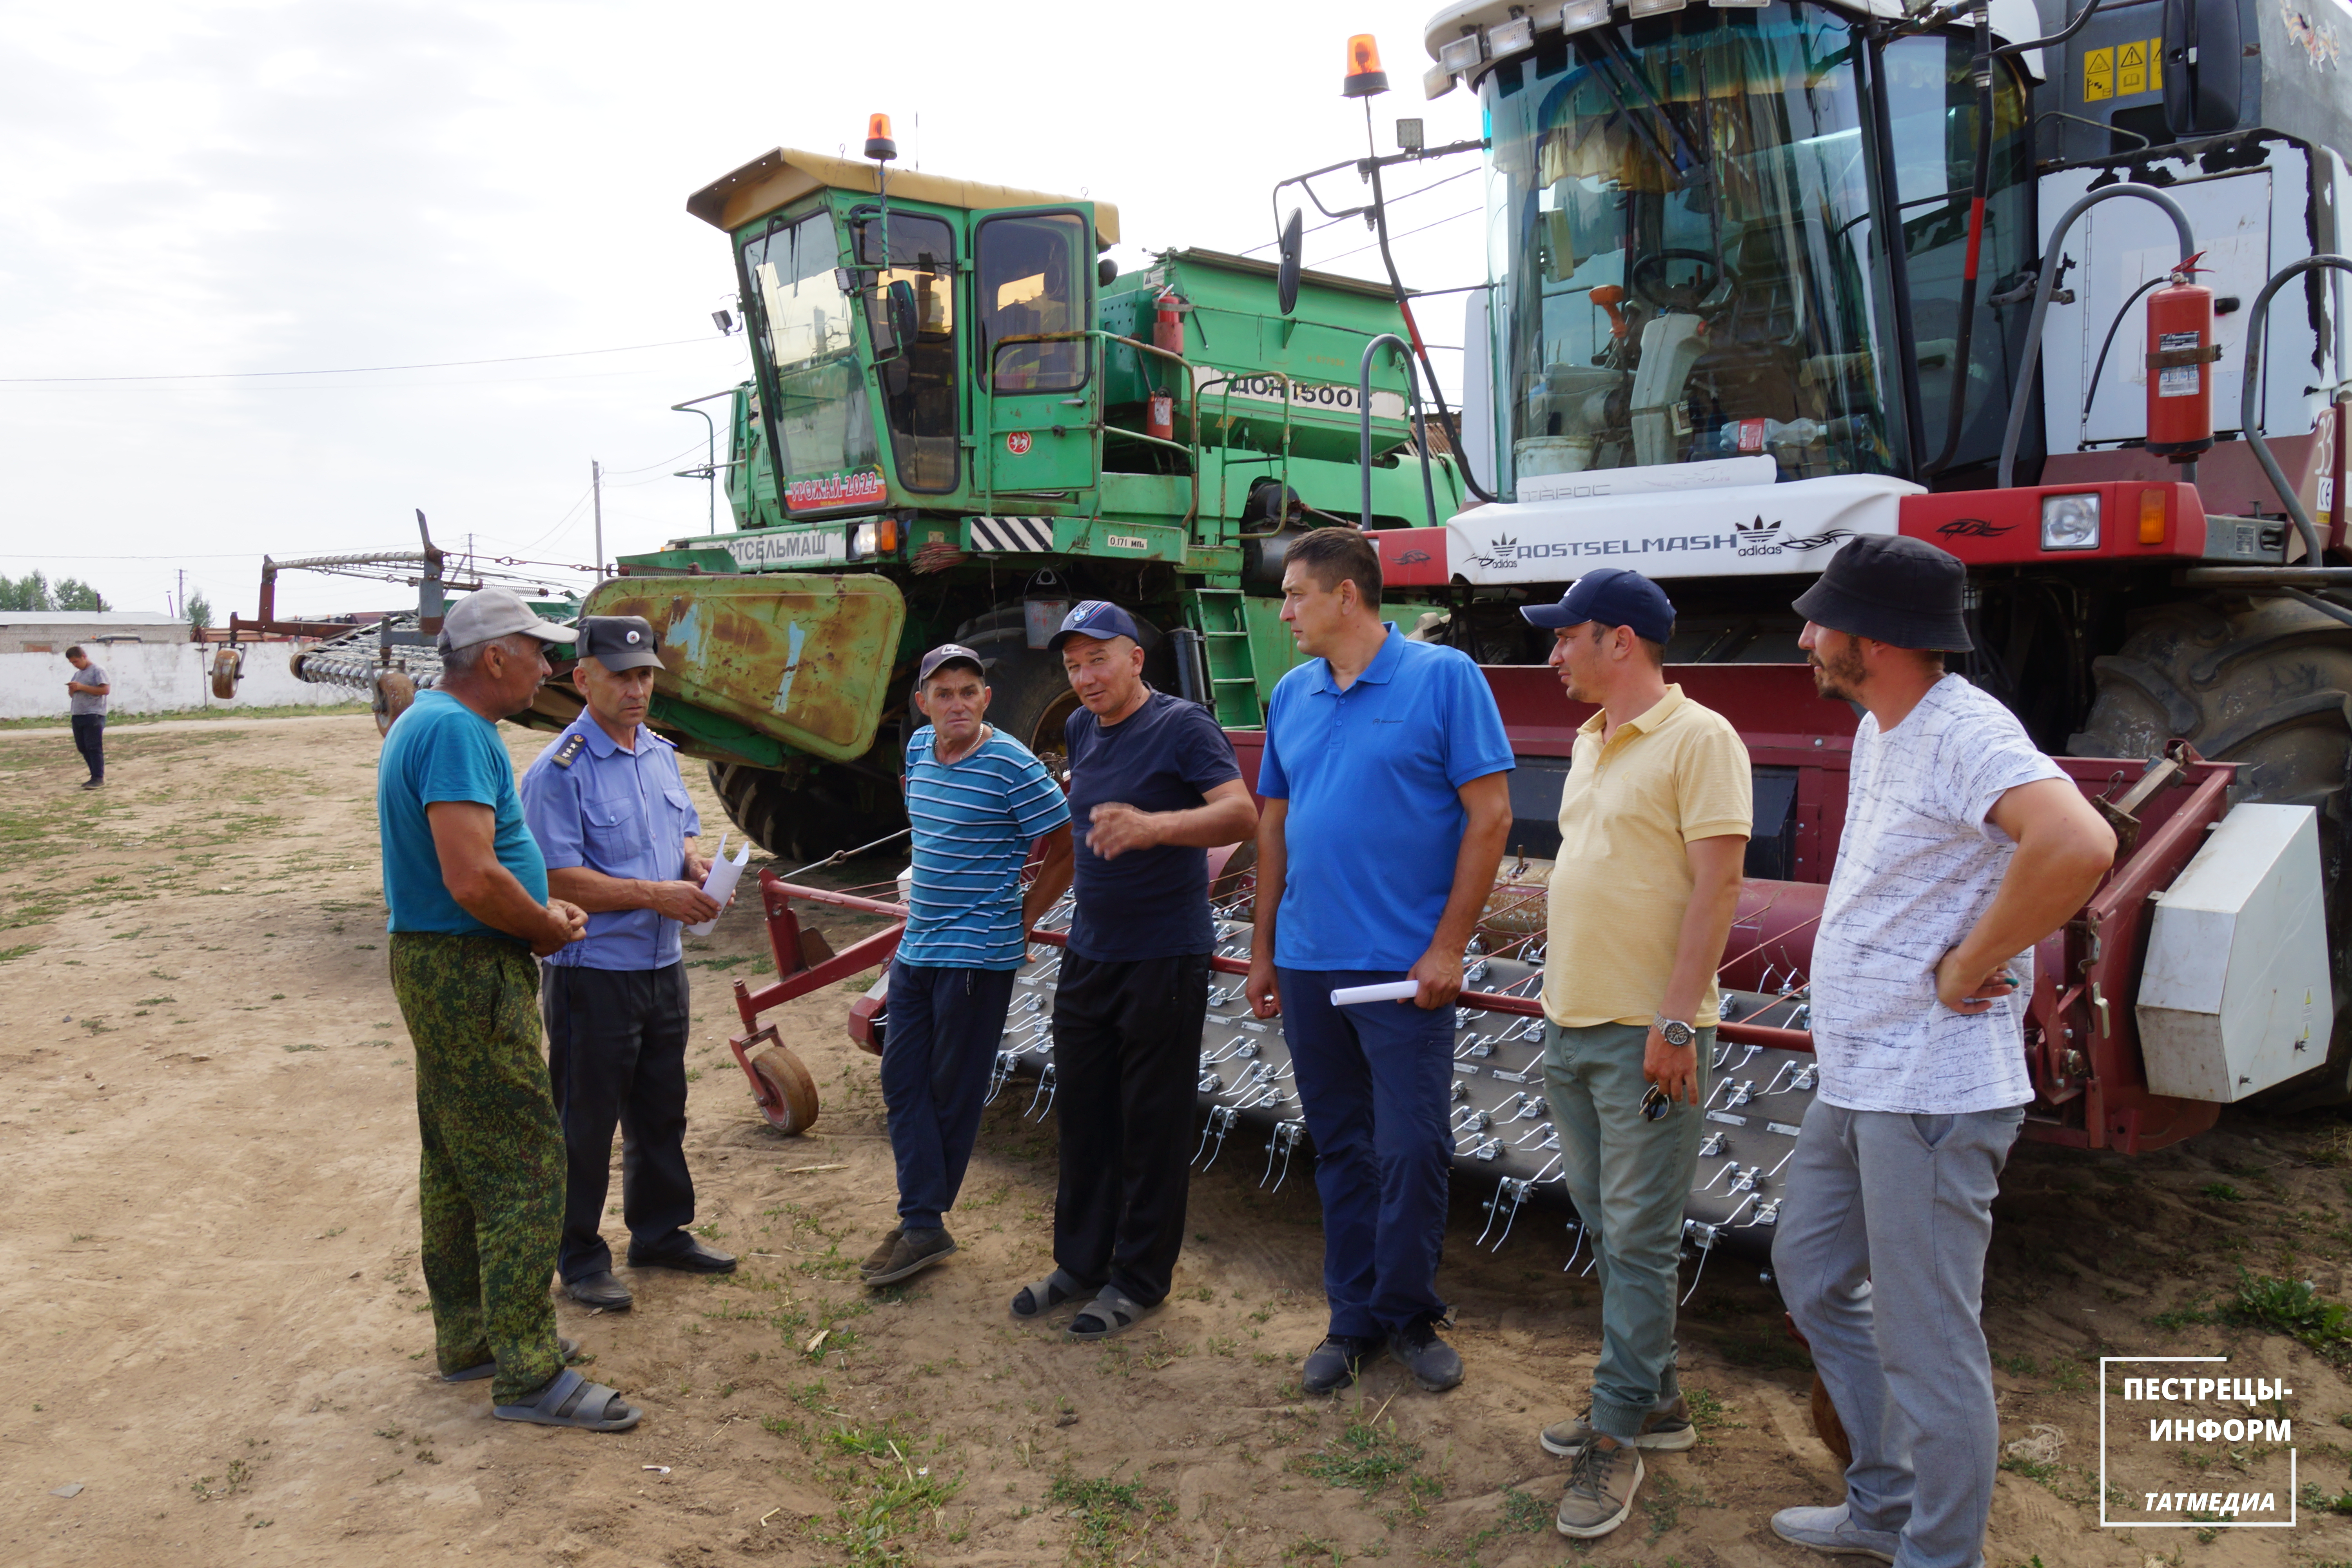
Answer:
MULTIPOLYGON (((1973 146, 1947 125, 1973 122, 1964 68, 1947 85, 1945 40, 1907 45, 1926 54, 1889 61, 1912 96, 1898 165, 1922 165, 1905 202, 1966 186, 1973 146)), ((1731 456, 1771 456, 1783 480, 1896 465, 1856 47, 1820 7, 1691 7, 1550 35, 1484 82, 1498 456, 1517 482, 1731 456)), ((1947 317, 1957 252, 1950 270, 1947 317)))

